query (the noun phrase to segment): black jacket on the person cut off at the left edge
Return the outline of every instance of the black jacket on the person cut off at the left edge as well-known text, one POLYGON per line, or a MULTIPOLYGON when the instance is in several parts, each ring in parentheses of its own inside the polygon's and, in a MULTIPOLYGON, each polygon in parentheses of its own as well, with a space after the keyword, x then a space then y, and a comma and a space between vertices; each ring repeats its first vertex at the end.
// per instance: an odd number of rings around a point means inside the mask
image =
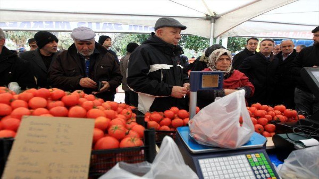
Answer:
POLYGON ((30 63, 19 58, 17 52, 5 46, 0 54, 0 77, 0 86, 18 82, 23 90, 36 87, 30 63))

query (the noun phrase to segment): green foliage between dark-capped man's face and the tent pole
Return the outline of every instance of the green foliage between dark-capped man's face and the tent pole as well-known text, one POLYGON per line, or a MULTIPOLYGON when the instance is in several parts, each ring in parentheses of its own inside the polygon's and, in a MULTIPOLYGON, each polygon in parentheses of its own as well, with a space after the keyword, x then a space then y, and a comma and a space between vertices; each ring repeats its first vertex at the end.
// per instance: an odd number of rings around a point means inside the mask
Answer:
POLYGON ((209 47, 209 39, 196 35, 182 35, 179 45, 183 48, 199 52, 204 48, 209 47))

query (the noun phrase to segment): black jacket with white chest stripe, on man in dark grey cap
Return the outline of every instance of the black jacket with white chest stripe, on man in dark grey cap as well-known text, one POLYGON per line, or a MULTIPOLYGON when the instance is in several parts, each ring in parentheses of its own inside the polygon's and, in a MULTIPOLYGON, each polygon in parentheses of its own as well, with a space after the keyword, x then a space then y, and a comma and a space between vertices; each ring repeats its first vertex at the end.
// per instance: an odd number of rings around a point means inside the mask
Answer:
POLYGON ((139 111, 185 108, 184 98, 170 97, 173 86, 189 82, 187 74, 182 72, 179 55, 183 53, 181 47, 164 42, 154 33, 134 50, 128 64, 127 84, 139 93, 139 111))

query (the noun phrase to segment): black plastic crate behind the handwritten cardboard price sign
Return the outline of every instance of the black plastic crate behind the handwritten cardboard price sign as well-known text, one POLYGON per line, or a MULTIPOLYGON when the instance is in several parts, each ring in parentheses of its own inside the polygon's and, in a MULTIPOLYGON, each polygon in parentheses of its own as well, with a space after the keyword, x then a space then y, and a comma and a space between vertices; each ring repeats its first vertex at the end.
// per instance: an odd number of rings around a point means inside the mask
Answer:
MULTIPOLYGON (((0 178, 8 159, 14 138, 0 138, 0 178)), ((117 162, 139 163, 153 162, 156 155, 155 130, 144 131, 144 146, 116 148, 108 150, 93 150, 91 153, 89 176, 98 178, 114 167, 117 162)))

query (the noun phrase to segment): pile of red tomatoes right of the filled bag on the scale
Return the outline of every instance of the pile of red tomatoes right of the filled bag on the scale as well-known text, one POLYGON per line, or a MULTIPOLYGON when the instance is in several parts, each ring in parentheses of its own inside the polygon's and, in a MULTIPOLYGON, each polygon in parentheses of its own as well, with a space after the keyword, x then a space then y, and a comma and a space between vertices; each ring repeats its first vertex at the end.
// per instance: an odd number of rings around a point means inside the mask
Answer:
MULTIPOLYGON (((262 134, 264 137, 271 137, 276 134, 276 125, 271 123, 297 121, 305 118, 303 115, 298 115, 296 110, 286 109, 284 105, 271 107, 256 103, 247 107, 247 109, 254 124, 255 132, 262 134)), ((242 123, 242 118, 240 123, 242 123)))

